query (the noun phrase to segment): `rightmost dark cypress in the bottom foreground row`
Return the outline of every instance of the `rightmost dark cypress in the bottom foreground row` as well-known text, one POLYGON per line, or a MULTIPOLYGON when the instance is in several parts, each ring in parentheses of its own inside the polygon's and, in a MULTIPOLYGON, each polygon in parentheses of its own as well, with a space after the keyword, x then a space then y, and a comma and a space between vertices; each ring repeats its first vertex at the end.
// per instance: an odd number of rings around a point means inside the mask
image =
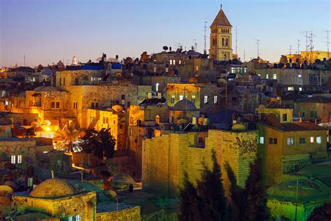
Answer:
POLYGON ((249 177, 246 180, 243 199, 247 201, 244 205, 244 220, 268 220, 270 217, 267 208, 267 193, 263 184, 262 160, 256 157, 250 164, 249 177))

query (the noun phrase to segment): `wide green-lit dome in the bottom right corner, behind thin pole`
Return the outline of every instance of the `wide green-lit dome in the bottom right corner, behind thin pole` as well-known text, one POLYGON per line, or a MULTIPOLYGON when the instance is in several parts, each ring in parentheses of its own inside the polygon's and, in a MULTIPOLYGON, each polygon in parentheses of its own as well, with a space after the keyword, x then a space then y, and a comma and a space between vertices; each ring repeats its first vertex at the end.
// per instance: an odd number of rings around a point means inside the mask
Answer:
POLYGON ((281 201, 296 201, 296 191, 297 200, 300 202, 313 201, 314 199, 331 195, 330 187, 308 179, 299 180, 298 185, 297 180, 287 180, 269 187, 267 194, 269 198, 281 201))

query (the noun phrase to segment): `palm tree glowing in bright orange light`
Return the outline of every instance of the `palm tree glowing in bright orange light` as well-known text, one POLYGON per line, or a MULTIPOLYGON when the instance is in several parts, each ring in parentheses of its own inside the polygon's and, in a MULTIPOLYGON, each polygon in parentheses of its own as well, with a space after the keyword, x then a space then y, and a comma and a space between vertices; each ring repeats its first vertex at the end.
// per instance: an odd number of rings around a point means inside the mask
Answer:
POLYGON ((80 147, 75 146, 74 142, 78 141, 80 131, 76 129, 75 124, 65 125, 64 128, 55 132, 53 139, 57 141, 57 149, 66 152, 80 151, 80 147))

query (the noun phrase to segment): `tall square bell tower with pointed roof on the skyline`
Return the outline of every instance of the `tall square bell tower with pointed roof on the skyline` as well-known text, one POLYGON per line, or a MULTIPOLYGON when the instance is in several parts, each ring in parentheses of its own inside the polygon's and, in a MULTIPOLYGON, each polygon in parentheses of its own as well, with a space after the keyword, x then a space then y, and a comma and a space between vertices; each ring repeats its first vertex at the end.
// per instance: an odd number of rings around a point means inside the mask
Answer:
POLYGON ((210 26, 209 58, 213 60, 233 59, 232 25, 223 12, 222 5, 210 26))

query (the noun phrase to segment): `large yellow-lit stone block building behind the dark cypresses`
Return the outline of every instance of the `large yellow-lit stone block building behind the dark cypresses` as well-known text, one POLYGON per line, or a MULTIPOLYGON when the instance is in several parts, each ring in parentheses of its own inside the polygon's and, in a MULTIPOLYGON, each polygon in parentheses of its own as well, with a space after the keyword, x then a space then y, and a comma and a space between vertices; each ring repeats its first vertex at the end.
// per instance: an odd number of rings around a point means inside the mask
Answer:
POLYGON ((182 187, 184 171, 196 184, 203 169, 202 162, 212 166, 212 150, 222 166, 223 183, 228 192, 229 180, 224 164, 237 176, 237 183, 244 187, 249 175, 249 164, 256 158, 256 131, 170 132, 142 141, 142 188, 177 196, 182 187))

